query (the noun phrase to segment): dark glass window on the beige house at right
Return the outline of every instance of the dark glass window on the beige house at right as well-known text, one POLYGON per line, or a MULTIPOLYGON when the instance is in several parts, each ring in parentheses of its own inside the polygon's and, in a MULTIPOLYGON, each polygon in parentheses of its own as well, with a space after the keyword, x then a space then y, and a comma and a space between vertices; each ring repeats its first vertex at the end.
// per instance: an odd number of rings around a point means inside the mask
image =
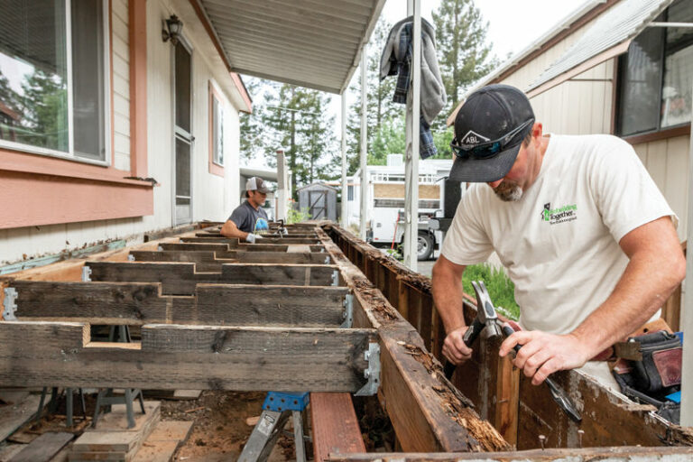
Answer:
MULTIPOLYGON (((693 23, 693 3, 679 0, 655 21, 693 23)), ((648 27, 619 59, 618 75, 618 134, 643 134, 688 124, 693 30, 648 27)))

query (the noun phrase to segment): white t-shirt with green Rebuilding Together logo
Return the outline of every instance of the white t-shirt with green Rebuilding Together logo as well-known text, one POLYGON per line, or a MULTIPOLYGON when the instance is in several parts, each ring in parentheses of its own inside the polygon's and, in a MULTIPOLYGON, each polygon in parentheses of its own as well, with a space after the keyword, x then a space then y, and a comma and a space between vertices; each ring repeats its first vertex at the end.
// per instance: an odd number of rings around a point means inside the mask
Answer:
POLYGON ((482 263, 495 250, 515 284, 520 325, 565 334, 611 294, 628 257, 618 242, 659 217, 677 218, 630 144, 611 135, 551 135, 522 199, 485 183, 460 200, 441 253, 482 263))

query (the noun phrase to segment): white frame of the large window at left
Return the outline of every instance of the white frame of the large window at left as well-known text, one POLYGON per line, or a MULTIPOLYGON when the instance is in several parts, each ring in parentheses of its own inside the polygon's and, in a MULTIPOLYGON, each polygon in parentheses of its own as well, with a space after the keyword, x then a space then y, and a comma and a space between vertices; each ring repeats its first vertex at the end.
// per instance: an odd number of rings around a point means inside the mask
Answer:
POLYGON ((65 33, 66 33, 66 60, 67 60, 67 70, 68 70, 68 146, 69 152, 62 152, 55 149, 44 148, 41 146, 32 146, 31 144, 17 143, 13 141, 1 140, 0 148, 26 152, 30 154, 41 154, 47 157, 54 157, 57 159, 68 160, 73 162, 88 163, 92 165, 98 165, 103 167, 110 167, 112 162, 112 143, 111 143, 111 22, 110 22, 110 1, 101 0, 102 3, 102 21, 103 21, 103 34, 104 34, 104 47, 102 54, 102 65, 104 66, 104 101, 103 101, 103 111, 104 111, 104 139, 105 149, 104 149, 104 159, 89 159, 87 157, 79 157, 75 155, 75 125, 74 125, 74 88, 73 88, 73 78, 72 78, 72 2, 71 0, 65 0, 65 33))

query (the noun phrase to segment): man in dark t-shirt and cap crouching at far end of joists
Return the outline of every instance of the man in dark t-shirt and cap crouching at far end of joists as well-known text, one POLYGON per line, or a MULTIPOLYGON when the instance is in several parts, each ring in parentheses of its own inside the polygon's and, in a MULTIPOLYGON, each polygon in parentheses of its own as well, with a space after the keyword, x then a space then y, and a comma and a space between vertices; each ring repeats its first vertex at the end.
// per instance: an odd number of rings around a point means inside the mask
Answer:
POLYGON ((262 236, 257 232, 266 230, 269 226, 267 213, 262 208, 269 191, 270 189, 267 189, 260 177, 252 177, 245 181, 245 197, 247 199, 236 207, 231 216, 226 219, 224 226, 221 226, 221 235, 238 237, 251 244, 260 239, 262 236))

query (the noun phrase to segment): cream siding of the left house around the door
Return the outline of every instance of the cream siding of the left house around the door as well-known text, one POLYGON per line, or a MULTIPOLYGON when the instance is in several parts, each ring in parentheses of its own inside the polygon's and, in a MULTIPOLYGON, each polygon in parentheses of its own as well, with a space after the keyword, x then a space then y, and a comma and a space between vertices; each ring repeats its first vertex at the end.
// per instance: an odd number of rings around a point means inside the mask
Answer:
MULTIPOLYGON (((113 47, 113 164, 127 176, 132 169, 130 143, 130 43, 128 1, 112 0, 113 47)), ((97 245, 110 240, 125 239, 134 243, 145 232, 173 225, 173 120, 171 118, 172 47, 162 42, 162 20, 178 14, 189 34, 193 47, 193 134, 192 188, 193 220, 223 220, 239 203, 239 118, 238 105, 243 98, 217 51, 208 39, 202 24, 191 14, 186 1, 150 0, 146 5, 146 101, 147 101, 147 170, 142 176, 152 177, 159 186, 152 189, 153 214, 144 217, 100 219, 46 226, 23 226, 0 229, 0 265, 34 257, 59 254, 65 250, 97 245), (224 177, 208 171, 208 82, 217 84, 224 107, 225 169, 224 177)), ((89 194, 89 187, 84 189, 89 194)))

